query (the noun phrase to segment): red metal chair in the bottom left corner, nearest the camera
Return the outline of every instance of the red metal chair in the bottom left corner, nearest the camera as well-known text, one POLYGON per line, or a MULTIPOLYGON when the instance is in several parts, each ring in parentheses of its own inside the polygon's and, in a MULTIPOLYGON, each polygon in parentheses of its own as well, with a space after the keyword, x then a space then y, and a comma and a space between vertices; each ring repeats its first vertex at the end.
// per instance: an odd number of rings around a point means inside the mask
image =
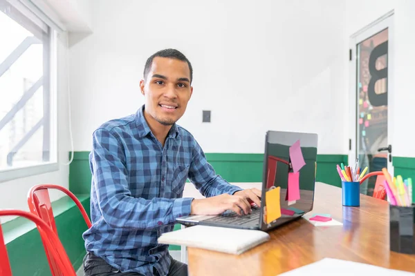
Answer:
MULTIPOLYGON (((76 276, 75 270, 71 264, 64 246, 59 241, 59 238, 53 230, 37 215, 22 211, 22 210, 0 210, 1 216, 19 216, 26 217, 35 222, 37 229, 39 230, 42 242, 46 245, 48 252, 56 260, 56 266, 62 272, 64 276, 76 276)), ((50 268, 52 271, 52 268, 50 268)), ((3 230, 0 224, 0 275, 1 276, 12 276, 12 270, 10 268, 10 261, 6 250, 6 244, 4 244, 3 230)))

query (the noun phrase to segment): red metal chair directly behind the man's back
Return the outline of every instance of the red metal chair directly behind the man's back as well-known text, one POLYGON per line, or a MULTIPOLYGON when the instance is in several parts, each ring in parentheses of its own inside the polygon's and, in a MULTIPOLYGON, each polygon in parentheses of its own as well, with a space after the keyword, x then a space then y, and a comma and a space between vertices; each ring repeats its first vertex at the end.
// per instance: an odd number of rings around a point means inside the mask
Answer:
MULTIPOLYGON (((55 223, 55 217, 53 216, 53 210, 52 210, 52 204, 50 203, 50 197, 48 189, 56 189, 64 192, 66 195, 71 197, 71 199, 75 202, 77 207, 80 209, 82 217, 84 217, 84 220, 86 222, 86 226, 88 228, 91 228, 91 220, 89 219, 88 215, 86 214, 86 211, 84 209, 84 206, 82 206, 81 202, 73 193, 71 193, 69 190, 62 186, 57 186, 54 184, 39 184, 36 186, 33 186, 29 193, 28 193, 28 206, 30 209, 30 213, 33 213, 34 215, 39 216, 42 218, 50 228, 52 228, 53 232, 57 235, 57 228, 55 223)), ((43 241, 43 239, 42 239, 43 241)), ((61 271, 59 270, 59 267, 57 266, 55 262, 55 258, 53 255, 50 255, 48 253, 48 250, 46 249, 46 256, 48 257, 48 262, 50 265, 50 268, 52 270, 53 276, 60 276, 62 275, 61 271)))

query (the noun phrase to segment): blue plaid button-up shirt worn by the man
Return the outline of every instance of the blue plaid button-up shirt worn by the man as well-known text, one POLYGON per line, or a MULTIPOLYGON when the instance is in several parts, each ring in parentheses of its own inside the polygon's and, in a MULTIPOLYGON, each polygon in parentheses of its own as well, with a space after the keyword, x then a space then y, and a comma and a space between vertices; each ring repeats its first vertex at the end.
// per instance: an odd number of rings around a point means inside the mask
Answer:
POLYGON ((186 179, 205 197, 241 190, 216 175, 203 150, 174 124, 165 146, 151 133, 144 106, 134 115, 108 121, 93 132, 91 220, 86 250, 122 272, 167 275, 168 246, 158 244, 174 221, 190 215, 182 198, 186 179))

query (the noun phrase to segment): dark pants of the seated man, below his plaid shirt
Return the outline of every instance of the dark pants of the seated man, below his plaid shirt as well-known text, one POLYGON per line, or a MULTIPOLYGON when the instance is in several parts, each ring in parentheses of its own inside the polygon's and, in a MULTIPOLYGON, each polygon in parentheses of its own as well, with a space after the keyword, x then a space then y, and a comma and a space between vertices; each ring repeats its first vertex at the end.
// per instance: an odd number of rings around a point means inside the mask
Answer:
MULTIPOLYGON (((176 261, 172 257, 172 263, 169 268, 169 276, 187 276, 187 264, 176 261)), ((135 272, 119 272, 116 268, 113 268, 104 259, 95 256, 93 253, 86 253, 84 257, 84 273, 85 276, 141 276, 135 272)), ((158 275, 156 269, 154 269, 154 275, 158 275)))

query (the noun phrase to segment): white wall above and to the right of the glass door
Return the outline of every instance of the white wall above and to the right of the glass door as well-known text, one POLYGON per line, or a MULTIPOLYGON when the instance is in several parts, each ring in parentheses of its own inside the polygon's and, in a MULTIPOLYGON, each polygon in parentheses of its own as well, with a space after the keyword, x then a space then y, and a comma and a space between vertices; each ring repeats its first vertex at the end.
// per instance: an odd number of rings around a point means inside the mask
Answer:
MULTIPOLYGON (((349 47, 349 37, 390 10, 394 10, 394 84, 393 93, 393 132, 392 155, 415 157, 414 137, 414 64, 415 64, 415 1, 411 0, 348 0, 344 47, 349 47)), ((348 70, 348 68, 345 68, 348 70)))

